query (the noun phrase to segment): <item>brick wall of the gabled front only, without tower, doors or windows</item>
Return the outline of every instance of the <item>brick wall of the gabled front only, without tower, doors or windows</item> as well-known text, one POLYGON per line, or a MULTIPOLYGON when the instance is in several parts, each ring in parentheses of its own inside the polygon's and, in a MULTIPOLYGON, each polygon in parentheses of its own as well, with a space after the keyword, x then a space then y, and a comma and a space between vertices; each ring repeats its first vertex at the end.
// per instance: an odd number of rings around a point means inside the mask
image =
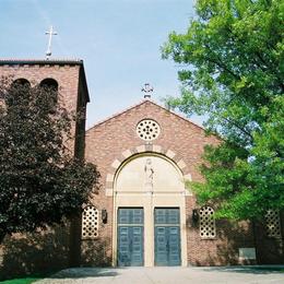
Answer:
MULTIPOLYGON (((178 164, 182 161, 182 173, 191 176, 192 180, 201 181, 199 165, 202 163, 203 147, 206 144, 217 144, 215 137, 206 137, 204 130, 190 121, 168 111, 151 100, 118 114, 86 131, 85 157, 88 162, 97 165, 102 175, 99 193, 94 198, 93 204, 99 210, 106 209, 109 215, 107 224, 100 226, 99 238, 82 242, 83 247, 99 244, 104 251, 102 264, 113 258, 111 234, 113 234, 113 206, 114 197, 108 194, 111 188, 111 177, 116 174, 120 164, 135 153, 158 152, 166 155, 178 164), (143 143, 135 133, 135 126, 142 119, 150 118, 161 126, 161 135, 153 143, 143 143), (144 149, 143 149, 144 145, 144 149), (142 149, 142 150, 141 150, 142 149), (141 150, 141 151, 139 151, 141 150), (110 177, 110 178, 109 178, 110 177), (104 242, 104 244, 103 244, 104 242)), ((224 265, 242 263, 281 263, 283 258, 282 239, 265 237, 264 230, 256 234, 259 226, 251 222, 232 224, 227 221, 216 221, 216 237, 202 239, 199 235, 199 225, 192 222, 192 210, 199 208, 194 196, 186 197, 187 214, 187 249, 188 264, 193 265, 224 265), (257 240, 260 238, 261 240, 257 240), (263 240, 265 239, 265 241, 263 240), (263 247, 263 241, 268 247, 263 247), (261 244, 262 242, 262 244, 261 244), (239 248, 257 248, 257 260, 239 259, 239 248), (273 248, 272 253, 268 253, 273 248)), ((83 253, 83 259, 86 256, 83 253)), ((88 260, 88 264, 97 264, 88 260)))

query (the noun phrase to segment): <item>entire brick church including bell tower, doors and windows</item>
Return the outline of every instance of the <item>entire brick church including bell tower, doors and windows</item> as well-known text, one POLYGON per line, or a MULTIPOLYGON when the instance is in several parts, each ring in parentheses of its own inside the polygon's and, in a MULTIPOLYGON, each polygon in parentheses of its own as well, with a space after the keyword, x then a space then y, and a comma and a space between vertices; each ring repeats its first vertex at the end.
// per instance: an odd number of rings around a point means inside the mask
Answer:
MULTIPOLYGON (((82 60, 0 60, 2 75, 56 83, 69 110, 90 100, 82 60)), ((232 223, 214 218, 214 204, 197 203, 188 181, 204 181, 203 149, 222 143, 202 127, 146 97, 86 131, 84 123, 74 126, 73 134, 74 155, 97 166, 99 190, 83 204, 82 217, 52 237, 43 233, 40 251, 27 246, 26 262, 50 253, 55 268, 283 262, 279 212, 268 212, 262 223, 232 223)), ((2 267, 12 239, 1 250, 2 267)))

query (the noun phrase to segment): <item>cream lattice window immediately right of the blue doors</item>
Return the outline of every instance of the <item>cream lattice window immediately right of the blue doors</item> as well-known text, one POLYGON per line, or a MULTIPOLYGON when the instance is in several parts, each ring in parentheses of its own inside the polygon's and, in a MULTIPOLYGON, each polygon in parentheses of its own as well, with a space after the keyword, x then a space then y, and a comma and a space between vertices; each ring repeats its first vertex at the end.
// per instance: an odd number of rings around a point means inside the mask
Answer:
POLYGON ((210 206, 203 206, 199 210, 200 215, 200 237, 214 238, 216 236, 214 210, 210 206))

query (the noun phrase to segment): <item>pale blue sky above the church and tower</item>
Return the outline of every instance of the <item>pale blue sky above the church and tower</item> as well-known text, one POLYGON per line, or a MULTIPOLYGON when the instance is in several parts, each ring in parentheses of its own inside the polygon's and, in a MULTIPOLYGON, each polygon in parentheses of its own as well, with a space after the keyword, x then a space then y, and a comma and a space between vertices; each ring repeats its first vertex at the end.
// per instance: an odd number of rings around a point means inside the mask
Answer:
POLYGON ((187 31, 193 1, 0 0, 0 57, 45 58, 45 32, 52 25, 58 35, 50 59, 84 60, 90 128, 141 102, 144 83, 154 87, 158 104, 179 95, 179 67, 162 59, 161 47, 170 32, 187 31))

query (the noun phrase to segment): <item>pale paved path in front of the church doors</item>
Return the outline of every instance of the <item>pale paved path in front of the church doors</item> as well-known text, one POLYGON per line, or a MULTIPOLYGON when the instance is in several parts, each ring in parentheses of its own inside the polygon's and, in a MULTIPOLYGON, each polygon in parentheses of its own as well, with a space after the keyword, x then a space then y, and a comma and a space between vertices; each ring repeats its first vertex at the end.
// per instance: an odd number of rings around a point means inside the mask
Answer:
POLYGON ((284 284, 282 268, 79 268, 62 270, 37 284, 284 284))

